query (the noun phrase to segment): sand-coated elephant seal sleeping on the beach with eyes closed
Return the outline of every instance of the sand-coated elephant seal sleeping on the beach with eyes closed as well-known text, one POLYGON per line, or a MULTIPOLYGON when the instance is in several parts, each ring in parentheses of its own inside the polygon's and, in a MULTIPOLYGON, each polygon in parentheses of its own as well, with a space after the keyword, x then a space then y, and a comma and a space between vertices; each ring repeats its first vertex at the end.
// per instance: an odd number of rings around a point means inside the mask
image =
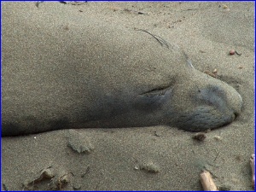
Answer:
POLYGON ((204 131, 241 113, 235 89, 149 32, 59 3, 2 3, 2 12, 2 136, 151 125, 204 131))

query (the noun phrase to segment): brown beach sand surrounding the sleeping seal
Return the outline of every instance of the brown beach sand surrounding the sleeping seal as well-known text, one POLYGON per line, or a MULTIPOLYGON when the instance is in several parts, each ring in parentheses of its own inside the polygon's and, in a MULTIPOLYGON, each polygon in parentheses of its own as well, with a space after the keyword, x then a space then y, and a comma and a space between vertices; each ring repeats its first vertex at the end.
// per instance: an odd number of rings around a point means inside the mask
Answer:
POLYGON ((201 190, 203 169, 220 189, 253 190, 254 3, 39 3, 38 9, 55 6, 173 39, 195 68, 217 69, 217 78, 238 90, 244 107, 203 142, 166 126, 3 137, 2 190, 26 189, 24 184, 33 190, 201 190), (241 55, 229 55, 230 49, 241 55), (52 181, 33 183, 48 167, 52 181))

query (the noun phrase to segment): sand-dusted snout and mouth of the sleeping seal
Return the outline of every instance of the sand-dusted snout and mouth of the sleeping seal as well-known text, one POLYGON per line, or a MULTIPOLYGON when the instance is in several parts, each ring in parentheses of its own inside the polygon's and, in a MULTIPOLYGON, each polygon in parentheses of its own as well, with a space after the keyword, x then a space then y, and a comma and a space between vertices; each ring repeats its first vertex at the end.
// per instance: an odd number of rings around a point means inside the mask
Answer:
POLYGON ((172 113, 174 118, 170 125, 186 131, 207 131, 236 119, 241 113, 241 96, 230 85, 216 83, 207 84, 200 90, 189 90, 187 96, 190 102, 187 102, 187 106, 178 105, 175 115, 172 113))

